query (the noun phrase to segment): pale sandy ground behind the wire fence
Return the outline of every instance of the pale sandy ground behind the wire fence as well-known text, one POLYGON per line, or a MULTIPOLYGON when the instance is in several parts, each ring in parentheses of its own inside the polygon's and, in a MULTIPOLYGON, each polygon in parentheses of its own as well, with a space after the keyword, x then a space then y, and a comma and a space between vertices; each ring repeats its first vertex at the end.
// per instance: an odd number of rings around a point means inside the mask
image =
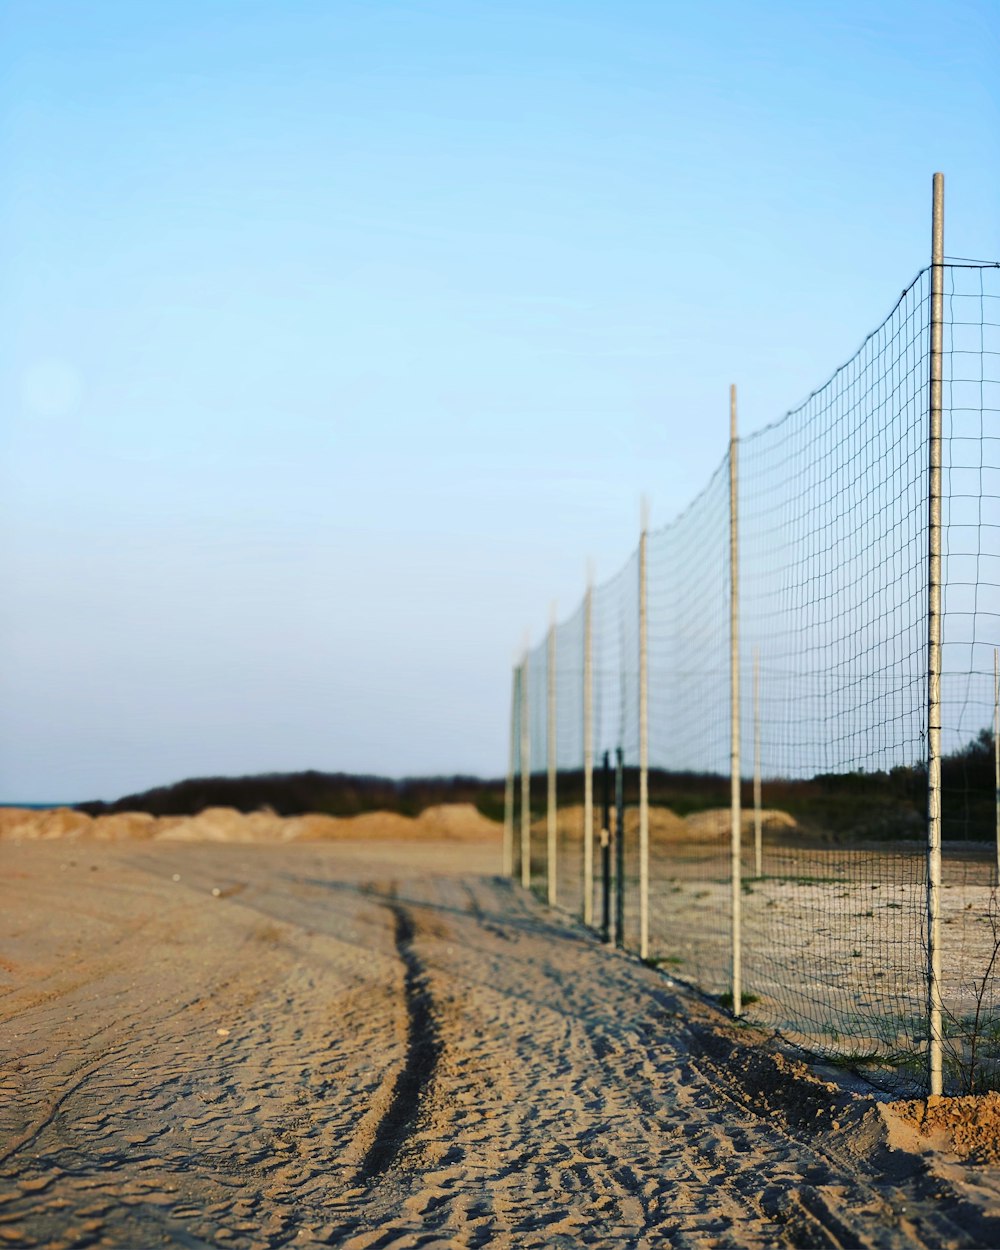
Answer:
MULTIPOLYGON (((559 905, 582 911, 582 814, 560 812, 559 905)), ((638 814, 626 821, 625 941, 639 948, 638 814)), ((915 842, 789 842, 795 822, 765 812, 761 876, 744 821, 742 986, 748 1019, 814 1054, 862 1062, 899 1098, 926 1081, 925 850, 915 842)), ((650 814, 649 952, 720 995, 731 980, 729 812, 650 814)), ((545 828, 534 826, 532 880, 545 894, 545 828)), ((941 991, 945 1088, 1000 1080, 1000 896, 991 849, 946 844, 941 991), (979 1016, 976 1015, 979 1012, 979 1016), (979 1019, 979 1025, 974 1021, 979 1019), (971 1049, 976 1039, 976 1049, 971 1049)), ((594 916, 602 911, 600 860, 594 916)))

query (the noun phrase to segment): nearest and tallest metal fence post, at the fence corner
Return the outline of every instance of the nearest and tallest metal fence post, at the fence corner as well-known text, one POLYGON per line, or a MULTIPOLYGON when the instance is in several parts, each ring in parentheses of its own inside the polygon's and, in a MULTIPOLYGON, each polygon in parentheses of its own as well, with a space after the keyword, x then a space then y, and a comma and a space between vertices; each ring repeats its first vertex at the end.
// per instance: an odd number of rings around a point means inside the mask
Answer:
POLYGON ((928 1088, 942 1088, 941 1030, 941 380, 944 355, 945 179, 934 175, 930 266, 930 428, 928 500, 928 1088))

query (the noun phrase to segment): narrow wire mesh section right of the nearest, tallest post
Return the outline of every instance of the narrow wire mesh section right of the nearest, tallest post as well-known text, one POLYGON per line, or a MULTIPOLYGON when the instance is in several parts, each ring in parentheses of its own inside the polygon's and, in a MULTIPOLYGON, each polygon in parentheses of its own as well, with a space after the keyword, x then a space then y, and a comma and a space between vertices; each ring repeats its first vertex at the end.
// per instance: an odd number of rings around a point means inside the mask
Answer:
POLYGON ((945 1064, 1000 1086, 1000 270, 945 271, 941 702, 945 1064))

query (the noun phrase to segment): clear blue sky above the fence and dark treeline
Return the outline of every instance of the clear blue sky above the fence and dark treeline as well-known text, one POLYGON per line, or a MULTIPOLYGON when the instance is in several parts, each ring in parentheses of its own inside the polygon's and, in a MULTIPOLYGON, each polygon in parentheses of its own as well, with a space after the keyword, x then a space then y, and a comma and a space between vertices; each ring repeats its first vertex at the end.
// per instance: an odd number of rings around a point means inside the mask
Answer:
POLYGON ((506 765, 510 666, 928 260, 995 0, 4 0, 0 800, 506 765))

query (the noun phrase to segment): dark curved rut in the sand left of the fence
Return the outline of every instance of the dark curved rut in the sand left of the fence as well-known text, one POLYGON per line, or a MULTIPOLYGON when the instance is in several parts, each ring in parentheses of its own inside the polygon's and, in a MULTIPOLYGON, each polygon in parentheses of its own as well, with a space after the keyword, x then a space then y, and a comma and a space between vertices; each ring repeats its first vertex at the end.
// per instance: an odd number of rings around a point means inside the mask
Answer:
POLYGON ((414 920, 399 902, 386 902, 395 922, 396 952, 404 966, 406 1002, 406 1058, 396 1075, 385 1115, 359 1168, 359 1179, 370 1182, 398 1160, 414 1130, 421 1102, 434 1081, 441 1055, 441 1039, 434 999, 420 956, 414 949, 414 920))

